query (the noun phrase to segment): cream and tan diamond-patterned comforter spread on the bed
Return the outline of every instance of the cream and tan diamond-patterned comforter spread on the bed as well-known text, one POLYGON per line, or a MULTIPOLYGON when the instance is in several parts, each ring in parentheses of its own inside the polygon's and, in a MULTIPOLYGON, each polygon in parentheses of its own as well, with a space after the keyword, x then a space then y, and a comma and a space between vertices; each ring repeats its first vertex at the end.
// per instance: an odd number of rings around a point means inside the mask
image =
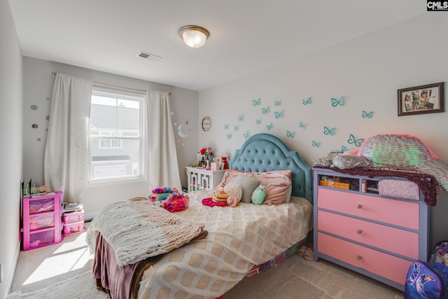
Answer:
POLYGON ((206 239, 171 251, 144 272, 139 298, 217 298, 229 291, 254 265, 271 260, 307 237, 313 207, 291 197, 278 206, 241 203, 208 207, 210 191, 189 193, 181 217, 205 223, 206 239))

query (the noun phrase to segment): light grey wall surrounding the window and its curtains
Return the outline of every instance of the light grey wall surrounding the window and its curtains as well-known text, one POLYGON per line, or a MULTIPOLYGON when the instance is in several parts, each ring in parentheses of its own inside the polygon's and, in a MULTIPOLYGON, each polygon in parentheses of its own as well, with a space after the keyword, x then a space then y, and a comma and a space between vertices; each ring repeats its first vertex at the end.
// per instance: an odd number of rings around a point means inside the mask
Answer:
MULTIPOLYGON (((176 139, 176 151, 179 162, 181 183, 187 186, 185 166, 193 163, 194 153, 197 151, 197 112, 198 92, 184 88, 176 88, 171 85, 142 81, 101 71, 94 71, 68 64, 59 64, 36 58, 24 57, 25 83, 24 83, 24 178, 25 181, 33 179, 37 183, 43 183, 43 159, 48 129, 47 116, 50 114, 52 88, 57 73, 85 78, 99 83, 135 88, 140 90, 157 90, 172 92, 170 104, 172 109, 172 120, 176 139), (34 106, 33 106, 34 105, 34 106), (33 106, 34 109, 31 109, 33 106), (37 109, 36 109, 37 107, 37 109), (188 122, 182 131, 189 133, 187 137, 177 134, 177 127, 188 122), (37 124, 34 129, 31 125, 37 124), (191 131, 189 131, 191 130, 191 131)), ((83 202, 85 218, 92 218, 94 212, 104 205, 135 196, 147 196, 148 184, 141 183, 118 183, 106 187, 86 188, 85 200, 83 202)))

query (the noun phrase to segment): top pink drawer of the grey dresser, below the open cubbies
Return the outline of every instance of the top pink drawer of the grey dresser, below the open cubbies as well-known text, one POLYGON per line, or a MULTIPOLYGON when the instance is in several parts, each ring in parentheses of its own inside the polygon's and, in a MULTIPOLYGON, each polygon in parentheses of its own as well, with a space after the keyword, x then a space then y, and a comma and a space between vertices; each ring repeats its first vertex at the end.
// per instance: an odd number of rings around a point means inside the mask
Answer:
POLYGON ((318 188, 318 208, 419 230, 418 202, 318 188))

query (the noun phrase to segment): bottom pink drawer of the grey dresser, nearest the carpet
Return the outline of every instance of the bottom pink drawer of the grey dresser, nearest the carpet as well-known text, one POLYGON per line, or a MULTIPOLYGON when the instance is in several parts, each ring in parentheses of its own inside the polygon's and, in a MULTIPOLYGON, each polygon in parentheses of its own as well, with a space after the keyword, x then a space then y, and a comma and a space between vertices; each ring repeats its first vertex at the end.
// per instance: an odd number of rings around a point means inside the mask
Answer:
POLYGON ((412 261, 318 232, 318 252, 404 285, 412 261))

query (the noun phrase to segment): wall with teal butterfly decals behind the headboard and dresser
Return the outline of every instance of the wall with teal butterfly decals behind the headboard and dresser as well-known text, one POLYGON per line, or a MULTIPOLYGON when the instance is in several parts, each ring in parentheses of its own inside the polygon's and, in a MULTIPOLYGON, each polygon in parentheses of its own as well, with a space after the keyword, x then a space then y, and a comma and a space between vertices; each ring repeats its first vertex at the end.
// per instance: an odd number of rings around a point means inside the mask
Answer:
MULTIPOLYGON (((448 40, 442 37, 442 28, 447 27, 447 15, 428 12, 202 90, 200 120, 210 116, 213 126, 209 132, 200 130, 200 146, 233 155, 248 135, 271 133, 311 165, 311 160, 342 146, 356 149, 348 142, 351 134, 365 139, 374 134, 407 133, 422 139, 448 162, 448 131, 444 130, 448 107, 445 113, 397 116, 398 89, 443 81, 447 92, 448 40), (344 106, 331 105, 331 98, 342 96, 344 106), (311 104, 304 105, 308 97, 311 104), (363 118, 363 111, 373 111, 372 118, 363 118), (334 127, 335 134, 324 134, 324 127, 334 127)), ((433 242, 448 239, 447 209, 448 196, 442 193, 433 209, 433 242)))

